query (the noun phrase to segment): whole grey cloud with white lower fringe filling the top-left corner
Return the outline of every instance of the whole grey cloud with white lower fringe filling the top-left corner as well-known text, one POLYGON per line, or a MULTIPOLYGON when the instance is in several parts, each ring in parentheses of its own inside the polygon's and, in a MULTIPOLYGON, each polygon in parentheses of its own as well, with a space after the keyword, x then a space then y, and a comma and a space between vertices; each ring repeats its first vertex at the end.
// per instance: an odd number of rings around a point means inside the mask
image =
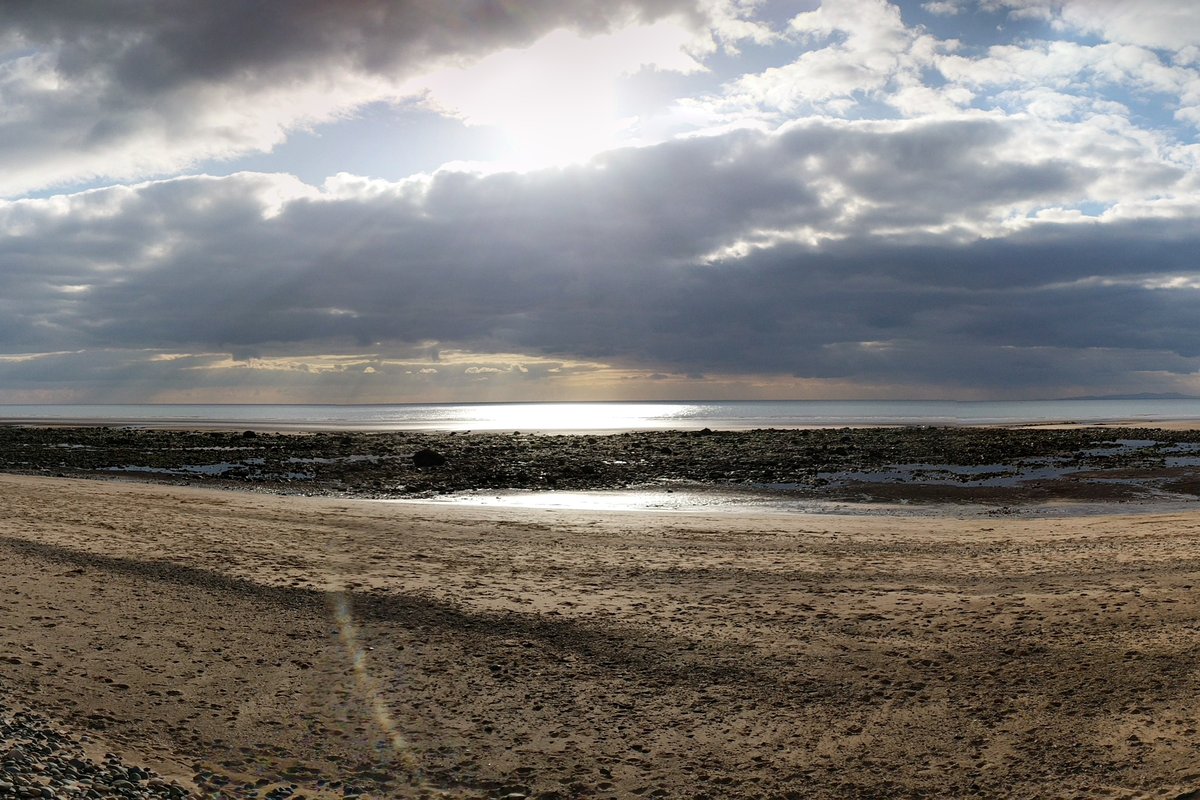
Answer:
POLYGON ((5 4, 0 196, 269 150, 434 67, 667 16, 704 26, 684 0, 5 4))

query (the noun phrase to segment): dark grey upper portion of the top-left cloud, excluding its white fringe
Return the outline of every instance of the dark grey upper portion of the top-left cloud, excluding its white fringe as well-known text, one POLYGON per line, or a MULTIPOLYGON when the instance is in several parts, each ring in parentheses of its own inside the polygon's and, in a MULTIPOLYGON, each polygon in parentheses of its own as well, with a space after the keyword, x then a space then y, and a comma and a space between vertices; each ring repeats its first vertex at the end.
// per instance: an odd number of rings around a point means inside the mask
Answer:
POLYGON ((587 32, 691 12, 684 0, 12 0, 0 26, 50 46, 68 78, 112 77, 149 95, 194 83, 307 79, 329 66, 391 74, 414 64, 527 44, 568 26, 587 32))

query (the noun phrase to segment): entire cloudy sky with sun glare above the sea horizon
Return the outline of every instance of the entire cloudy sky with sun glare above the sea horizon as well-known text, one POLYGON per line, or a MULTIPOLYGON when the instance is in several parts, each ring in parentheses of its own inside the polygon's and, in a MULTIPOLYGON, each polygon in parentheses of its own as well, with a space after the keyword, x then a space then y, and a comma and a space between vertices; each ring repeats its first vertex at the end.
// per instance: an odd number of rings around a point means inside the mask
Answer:
POLYGON ((0 402, 1200 395, 1193 0, 7 0, 0 402))

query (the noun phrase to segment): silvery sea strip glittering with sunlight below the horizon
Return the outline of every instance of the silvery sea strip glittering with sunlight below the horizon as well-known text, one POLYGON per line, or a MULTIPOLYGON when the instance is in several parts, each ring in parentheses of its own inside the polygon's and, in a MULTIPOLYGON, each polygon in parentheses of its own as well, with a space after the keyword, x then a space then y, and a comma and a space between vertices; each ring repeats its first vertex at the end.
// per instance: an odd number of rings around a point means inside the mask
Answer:
POLYGON ((277 431, 745 431, 754 428, 1103 425, 1200 420, 1196 399, 724 401, 425 403, 395 405, 2 405, 6 425, 109 425, 277 431))

